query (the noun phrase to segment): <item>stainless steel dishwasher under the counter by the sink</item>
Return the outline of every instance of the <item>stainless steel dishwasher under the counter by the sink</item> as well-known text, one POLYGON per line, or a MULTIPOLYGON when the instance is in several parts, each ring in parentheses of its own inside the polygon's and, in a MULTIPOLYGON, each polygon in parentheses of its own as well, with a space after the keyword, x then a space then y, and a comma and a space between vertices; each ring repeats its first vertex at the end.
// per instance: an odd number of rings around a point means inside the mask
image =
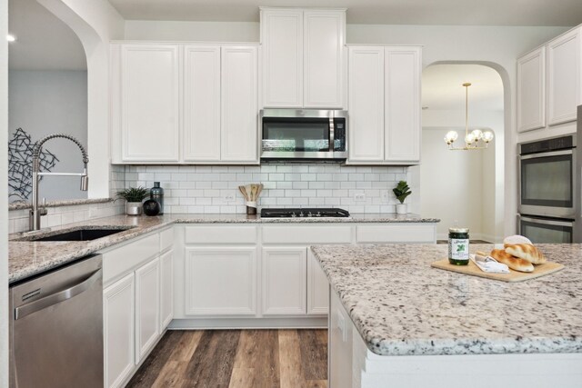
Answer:
POLYGON ((89 256, 10 287, 10 386, 103 388, 103 271, 89 256))

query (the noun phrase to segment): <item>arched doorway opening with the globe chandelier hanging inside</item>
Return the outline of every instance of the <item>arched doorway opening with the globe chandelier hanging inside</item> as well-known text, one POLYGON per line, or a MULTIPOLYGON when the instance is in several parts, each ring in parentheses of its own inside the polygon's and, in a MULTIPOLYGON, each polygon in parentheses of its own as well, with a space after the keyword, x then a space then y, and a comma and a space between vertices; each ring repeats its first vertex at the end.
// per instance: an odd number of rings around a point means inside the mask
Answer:
POLYGON ((469 227, 471 239, 499 242, 504 231, 504 85, 486 65, 436 64, 423 72, 422 164, 419 167, 420 214, 441 219, 437 238, 452 226, 469 227), (468 126, 490 130, 487 149, 450 151, 445 134, 465 136, 465 82, 468 126))

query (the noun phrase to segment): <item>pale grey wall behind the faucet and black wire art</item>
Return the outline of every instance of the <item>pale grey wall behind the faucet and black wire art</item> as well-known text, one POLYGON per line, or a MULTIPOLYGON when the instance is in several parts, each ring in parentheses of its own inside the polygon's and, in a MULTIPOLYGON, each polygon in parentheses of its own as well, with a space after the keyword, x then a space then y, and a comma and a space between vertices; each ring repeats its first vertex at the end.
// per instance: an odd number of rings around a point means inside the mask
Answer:
MULTIPOLYGON (((87 73, 85 71, 22 71, 8 75, 9 135, 16 128, 30 134, 33 142, 47 134, 71 134, 86 149, 87 144, 87 73)), ((53 172, 81 173, 79 148, 65 139, 53 139, 45 148, 59 162, 53 172)), ((89 161, 92 154, 89 154, 89 161)), ((47 201, 86 198, 79 190, 76 176, 46 176, 42 179, 40 196, 47 201)), ((12 191, 9 189, 9 191, 12 191)), ((14 198, 13 198, 14 199, 14 198)))

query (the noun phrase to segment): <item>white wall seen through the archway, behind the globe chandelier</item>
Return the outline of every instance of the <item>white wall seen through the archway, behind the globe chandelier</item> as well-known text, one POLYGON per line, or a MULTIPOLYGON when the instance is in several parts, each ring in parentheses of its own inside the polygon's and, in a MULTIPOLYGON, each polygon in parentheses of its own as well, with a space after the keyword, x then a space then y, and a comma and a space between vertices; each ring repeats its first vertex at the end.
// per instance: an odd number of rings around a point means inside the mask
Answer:
MULTIPOLYGON (((438 177, 435 172, 453 172, 457 169, 457 164, 471 163, 471 176, 455 174, 454 177, 447 177, 447 182, 453 180, 453 185, 460 186, 463 180, 470 182, 470 195, 473 195, 474 188, 479 186, 480 200, 478 208, 466 206, 466 214, 457 214, 459 225, 461 220, 473 225, 471 228, 471 238, 483 239, 491 242, 503 240, 504 209, 503 209, 503 170, 505 158, 503 155, 503 134, 504 134, 504 113, 495 110, 470 110, 469 126, 480 129, 491 129, 496 138, 487 150, 483 151, 447 151, 447 144, 443 138, 451 129, 459 134, 459 141, 464 137, 465 128, 461 127, 465 123, 464 110, 433 110, 423 111, 423 139, 422 158, 423 164, 419 170, 414 168, 411 172, 420 174, 420 214, 425 212, 437 213, 436 216, 442 219, 438 225, 437 233, 439 238, 447 234, 447 228, 454 225, 454 219, 447 215, 447 208, 459 201, 468 203, 467 196, 451 197, 445 187, 437 185, 438 177), (457 127, 458 126, 458 127, 457 127), (437 134, 435 134, 437 132, 437 134), (426 137, 426 138, 425 138, 426 137), (501 151, 499 151, 501 150, 501 151), (447 152, 445 152, 447 151, 447 152), (451 154, 481 154, 480 158, 475 156, 455 156, 451 154), (478 159, 478 161, 477 161, 478 159), (478 181, 478 183, 477 183, 478 181), (501 197, 499 199, 497 197, 501 197), (499 206, 501 204, 501 206, 499 206), (443 207, 446 205, 447 207, 443 207)), ((414 174, 414 173, 413 173, 414 174)))

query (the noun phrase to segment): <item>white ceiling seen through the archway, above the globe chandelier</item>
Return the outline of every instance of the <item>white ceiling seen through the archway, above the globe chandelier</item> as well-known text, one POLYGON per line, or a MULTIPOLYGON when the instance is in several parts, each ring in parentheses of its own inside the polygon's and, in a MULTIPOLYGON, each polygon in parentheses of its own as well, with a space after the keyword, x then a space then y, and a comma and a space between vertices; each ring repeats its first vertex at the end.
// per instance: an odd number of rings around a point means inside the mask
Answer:
POLYGON ((503 82, 497 71, 483 65, 431 65, 422 73, 422 105, 430 110, 465 110, 464 83, 469 112, 503 110, 503 82))

